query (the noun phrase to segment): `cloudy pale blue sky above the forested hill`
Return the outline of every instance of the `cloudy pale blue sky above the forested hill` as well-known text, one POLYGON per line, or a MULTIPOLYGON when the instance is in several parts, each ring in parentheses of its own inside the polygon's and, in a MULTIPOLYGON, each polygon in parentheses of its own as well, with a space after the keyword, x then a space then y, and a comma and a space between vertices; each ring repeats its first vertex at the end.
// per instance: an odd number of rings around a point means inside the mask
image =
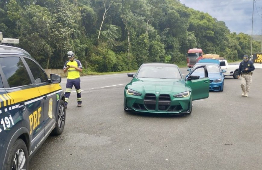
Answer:
POLYGON ((231 33, 262 35, 262 0, 180 0, 180 2, 189 8, 208 13, 218 21, 224 21, 231 33))

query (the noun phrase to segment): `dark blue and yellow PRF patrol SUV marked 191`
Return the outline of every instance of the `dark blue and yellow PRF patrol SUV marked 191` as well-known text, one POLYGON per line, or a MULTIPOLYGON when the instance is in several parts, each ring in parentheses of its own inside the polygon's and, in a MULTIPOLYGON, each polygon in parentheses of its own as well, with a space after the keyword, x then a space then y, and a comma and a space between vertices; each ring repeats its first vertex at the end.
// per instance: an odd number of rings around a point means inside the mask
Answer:
POLYGON ((0 170, 29 169, 49 134, 65 125, 61 77, 46 75, 25 50, 0 45, 0 170))

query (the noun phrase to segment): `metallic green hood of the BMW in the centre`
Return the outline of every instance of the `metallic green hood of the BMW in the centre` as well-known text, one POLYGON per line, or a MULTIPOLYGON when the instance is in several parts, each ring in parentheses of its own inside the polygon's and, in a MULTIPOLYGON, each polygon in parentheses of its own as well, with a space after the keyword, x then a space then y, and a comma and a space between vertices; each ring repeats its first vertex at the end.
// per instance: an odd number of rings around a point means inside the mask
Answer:
POLYGON ((185 80, 160 78, 133 78, 127 87, 141 93, 159 92, 160 94, 182 93, 191 90, 185 85, 185 80))

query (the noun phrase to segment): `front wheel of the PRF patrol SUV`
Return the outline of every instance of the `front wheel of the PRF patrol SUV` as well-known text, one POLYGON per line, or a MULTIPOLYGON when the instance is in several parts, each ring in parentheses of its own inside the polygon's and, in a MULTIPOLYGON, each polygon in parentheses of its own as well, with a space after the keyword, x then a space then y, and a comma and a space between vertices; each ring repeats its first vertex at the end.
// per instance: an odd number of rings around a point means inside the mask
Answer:
POLYGON ((63 132, 64 125, 65 125, 65 118, 66 118, 66 110, 65 110, 64 101, 60 100, 57 119, 56 119, 56 126, 51 133, 52 135, 60 135, 63 132))

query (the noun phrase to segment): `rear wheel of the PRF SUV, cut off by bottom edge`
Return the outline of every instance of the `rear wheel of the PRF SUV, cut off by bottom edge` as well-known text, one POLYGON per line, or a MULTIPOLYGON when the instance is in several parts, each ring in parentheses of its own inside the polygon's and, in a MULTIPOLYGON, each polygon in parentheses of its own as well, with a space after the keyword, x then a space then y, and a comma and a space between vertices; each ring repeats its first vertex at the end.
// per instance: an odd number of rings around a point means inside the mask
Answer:
POLYGON ((29 169, 28 151, 25 142, 22 139, 17 139, 11 150, 8 158, 6 169, 22 170, 29 169))

